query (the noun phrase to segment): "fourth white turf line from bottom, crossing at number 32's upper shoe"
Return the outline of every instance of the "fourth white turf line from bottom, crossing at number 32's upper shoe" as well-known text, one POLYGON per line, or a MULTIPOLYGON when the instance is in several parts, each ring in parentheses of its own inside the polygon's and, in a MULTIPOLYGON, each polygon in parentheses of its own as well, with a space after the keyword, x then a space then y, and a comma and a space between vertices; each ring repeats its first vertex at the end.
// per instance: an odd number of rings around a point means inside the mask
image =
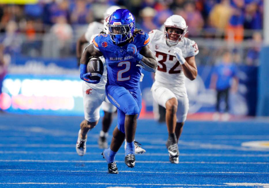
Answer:
MULTIPOLYGON (((101 152, 87 152, 86 155, 99 155, 101 152)), ((0 151, 0 154, 51 154, 51 155, 77 155, 68 151, 0 151)), ((125 155, 125 153, 117 153, 125 155)), ((168 153, 143 153, 141 156, 168 156, 168 153)), ((179 153, 179 156, 205 156, 205 157, 269 157, 269 154, 215 154, 215 153, 179 153)))

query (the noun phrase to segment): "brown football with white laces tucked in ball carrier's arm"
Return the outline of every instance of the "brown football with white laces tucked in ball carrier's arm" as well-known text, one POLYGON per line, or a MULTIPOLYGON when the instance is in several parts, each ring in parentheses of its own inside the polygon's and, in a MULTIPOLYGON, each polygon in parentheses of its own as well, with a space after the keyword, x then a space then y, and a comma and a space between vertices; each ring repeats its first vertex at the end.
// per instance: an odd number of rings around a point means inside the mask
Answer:
POLYGON ((104 73, 104 65, 101 59, 92 57, 87 64, 87 72, 91 73, 91 80, 100 80, 104 73))

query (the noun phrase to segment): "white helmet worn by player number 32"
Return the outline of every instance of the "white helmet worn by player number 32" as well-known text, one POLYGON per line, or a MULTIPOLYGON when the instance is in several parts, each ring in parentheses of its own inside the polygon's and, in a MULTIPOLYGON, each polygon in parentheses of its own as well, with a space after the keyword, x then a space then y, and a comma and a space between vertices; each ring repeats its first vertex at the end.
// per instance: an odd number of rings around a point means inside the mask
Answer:
POLYGON ((187 24, 186 21, 184 20, 184 18, 182 16, 179 15, 172 15, 169 18, 167 18, 164 22, 163 25, 164 28, 164 34, 165 34, 165 38, 166 41, 168 43, 168 45, 170 46, 174 46, 176 45, 179 41, 182 41, 184 39, 184 36, 187 33, 187 24), (171 40, 169 38, 169 33, 167 32, 168 28, 177 28, 177 29, 182 29, 183 32, 178 35, 178 39, 177 40, 171 40))

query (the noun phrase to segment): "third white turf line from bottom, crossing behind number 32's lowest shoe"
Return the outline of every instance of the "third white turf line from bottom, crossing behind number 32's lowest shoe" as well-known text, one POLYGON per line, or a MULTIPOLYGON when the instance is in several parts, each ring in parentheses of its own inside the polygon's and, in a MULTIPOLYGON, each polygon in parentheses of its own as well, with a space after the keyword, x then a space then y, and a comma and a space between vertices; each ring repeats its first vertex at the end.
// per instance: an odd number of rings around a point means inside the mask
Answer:
MULTIPOLYGON (((106 163, 106 161, 77 161, 77 160, 30 160, 30 159, 19 159, 19 160, 3 160, 0 162, 40 162, 40 163, 106 163)), ((116 161, 117 163, 124 163, 124 161, 116 161)), ((169 161, 136 161, 136 163, 169 163, 169 161)), ((204 161, 184 161, 179 162, 180 164, 269 164, 269 162, 204 162, 204 161)))

